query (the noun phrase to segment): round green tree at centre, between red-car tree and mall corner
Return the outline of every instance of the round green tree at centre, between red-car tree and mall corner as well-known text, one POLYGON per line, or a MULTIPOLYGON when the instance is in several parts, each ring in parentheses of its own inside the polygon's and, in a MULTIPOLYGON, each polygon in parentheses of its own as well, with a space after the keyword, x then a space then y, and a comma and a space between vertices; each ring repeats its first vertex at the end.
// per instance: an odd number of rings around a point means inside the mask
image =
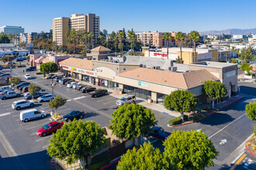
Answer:
POLYGON ((109 128, 118 138, 133 140, 147 135, 157 121, 150 109, 139 104, 123 104, 114 111, 110 123, 109 128))

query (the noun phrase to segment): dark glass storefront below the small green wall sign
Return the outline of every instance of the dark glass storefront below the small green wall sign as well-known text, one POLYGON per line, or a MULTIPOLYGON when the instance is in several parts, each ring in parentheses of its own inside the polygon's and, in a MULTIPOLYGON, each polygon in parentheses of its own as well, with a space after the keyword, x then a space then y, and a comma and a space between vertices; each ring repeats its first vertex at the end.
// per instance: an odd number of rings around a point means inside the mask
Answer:
POLYGON ((151 98, 151 91, 149 90, 144 90, 144 89, 140 89, 137 87, 130 87, 130 86, 126 86, 124 85, 124 92, 128 93, 128 94, 133 94, 136 97, 140 97, 142 99, 150 99, 151 98))

